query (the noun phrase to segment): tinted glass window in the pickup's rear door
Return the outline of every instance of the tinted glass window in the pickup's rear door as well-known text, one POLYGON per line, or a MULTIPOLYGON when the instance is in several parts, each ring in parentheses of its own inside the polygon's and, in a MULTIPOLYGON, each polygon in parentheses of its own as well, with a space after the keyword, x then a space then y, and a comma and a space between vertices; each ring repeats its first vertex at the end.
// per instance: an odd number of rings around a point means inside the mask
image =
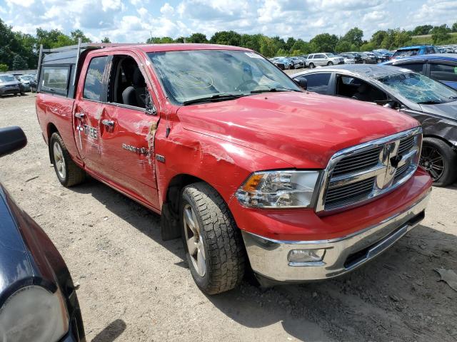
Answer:
POLYGON ((89 63, 84 81, 83 98, 88 100, 103 101, 105 97, 104 73, 109 56, 94 57, 89 63))

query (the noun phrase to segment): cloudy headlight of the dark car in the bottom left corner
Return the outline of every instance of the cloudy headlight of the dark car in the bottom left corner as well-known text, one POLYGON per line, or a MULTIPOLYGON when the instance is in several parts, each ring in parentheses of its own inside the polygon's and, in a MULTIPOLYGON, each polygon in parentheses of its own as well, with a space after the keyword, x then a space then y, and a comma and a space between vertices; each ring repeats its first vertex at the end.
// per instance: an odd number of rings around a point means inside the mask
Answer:
POLYGON ((0 309, 0 341, 59 341, 69 330, 69 317, 60 291, 40 286, 16 291, 0 309))

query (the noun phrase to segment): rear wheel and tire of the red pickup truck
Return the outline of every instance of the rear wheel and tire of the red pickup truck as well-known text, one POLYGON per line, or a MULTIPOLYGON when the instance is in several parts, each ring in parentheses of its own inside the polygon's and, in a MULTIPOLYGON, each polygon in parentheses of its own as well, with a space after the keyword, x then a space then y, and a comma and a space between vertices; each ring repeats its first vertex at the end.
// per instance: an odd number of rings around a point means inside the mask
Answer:
POLYGON ((51 161, 54 164, 57 178, 64 187, 73 187, 86 179, 86 172, 71 159, 65 142, 59 133, 53 133, 49 140, 51 161), (57 160, 56 160, 57 159, 57 160))

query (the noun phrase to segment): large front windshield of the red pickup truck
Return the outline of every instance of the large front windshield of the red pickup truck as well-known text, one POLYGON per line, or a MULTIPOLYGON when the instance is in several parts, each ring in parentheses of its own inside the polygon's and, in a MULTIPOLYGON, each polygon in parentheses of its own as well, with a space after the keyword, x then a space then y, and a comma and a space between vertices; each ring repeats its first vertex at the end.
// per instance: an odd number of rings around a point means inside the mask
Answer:
POLYGON ((301 91, 291 78, 253 52, 190 50, 148 55, 166 94, 178 104, 262 91, 301 91))

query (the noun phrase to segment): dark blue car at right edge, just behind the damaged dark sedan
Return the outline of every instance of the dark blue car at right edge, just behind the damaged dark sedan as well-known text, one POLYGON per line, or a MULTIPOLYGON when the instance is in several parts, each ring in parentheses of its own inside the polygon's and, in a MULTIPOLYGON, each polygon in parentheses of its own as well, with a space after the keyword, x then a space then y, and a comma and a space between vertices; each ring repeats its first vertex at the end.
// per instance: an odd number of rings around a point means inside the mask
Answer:
POLYGON ((457 89, 457 54, 455 53, 412 56, 388 61, 383 65, 408 68, 457 89))

